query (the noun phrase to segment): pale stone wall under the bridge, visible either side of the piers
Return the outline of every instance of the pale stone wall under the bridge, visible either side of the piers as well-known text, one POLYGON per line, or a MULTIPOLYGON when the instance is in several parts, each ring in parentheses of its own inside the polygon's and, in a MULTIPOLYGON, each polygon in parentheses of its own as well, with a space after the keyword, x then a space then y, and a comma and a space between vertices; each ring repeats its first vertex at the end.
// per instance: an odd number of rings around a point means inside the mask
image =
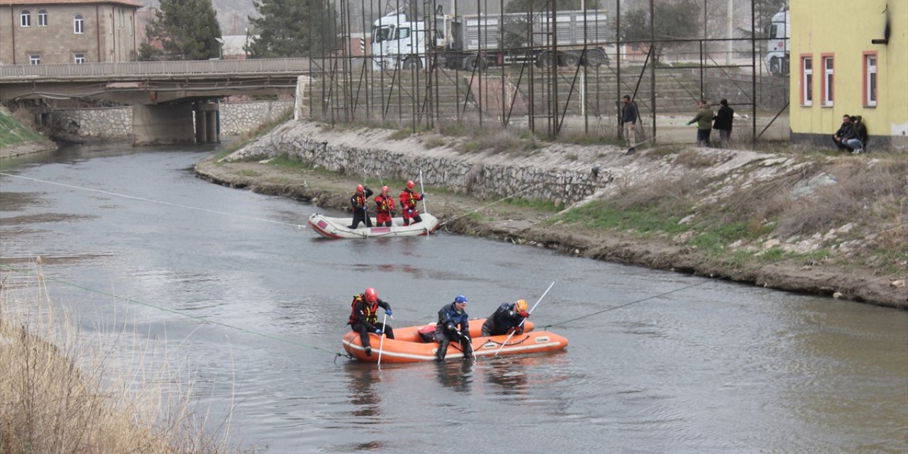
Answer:
MULTIPOLYGON (((293 100, 221 104, 221 135, 241 135, 291 112, 293 100)), ((70 137, 132 140, 133 108, 100 107, 54 111, 56 129, 70 137)), ((194 123, 194 121, 193 121, 194 123)))

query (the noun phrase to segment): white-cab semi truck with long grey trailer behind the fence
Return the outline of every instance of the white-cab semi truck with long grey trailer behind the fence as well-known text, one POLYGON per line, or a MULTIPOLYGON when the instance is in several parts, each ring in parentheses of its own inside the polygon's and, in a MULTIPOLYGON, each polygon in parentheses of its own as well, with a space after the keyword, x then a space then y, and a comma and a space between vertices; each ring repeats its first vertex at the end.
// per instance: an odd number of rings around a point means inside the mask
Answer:
POLYGON ((597 46, 610 36, 605 12, 559 11, 554 21, 548 14, 528 19, 526 13, 444 15, 440 11, 428 19, 410 21, 407 15, 391 13, 373 24, 372 66, 423 68, 429 64, 429 52, 436 65, 465 71, 527 62, 539 67, 608 63, 605 49, 597 46), (528 20, 533 21, 531 35, 528 20), (557 36, 553 39, 553 35, 557 36))

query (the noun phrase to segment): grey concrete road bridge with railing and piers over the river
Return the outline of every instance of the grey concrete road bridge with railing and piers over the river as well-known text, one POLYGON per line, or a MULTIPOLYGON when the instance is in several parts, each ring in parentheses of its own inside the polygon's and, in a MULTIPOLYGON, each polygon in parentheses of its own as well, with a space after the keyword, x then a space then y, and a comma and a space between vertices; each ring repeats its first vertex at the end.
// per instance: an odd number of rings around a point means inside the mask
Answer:
POLYGON ((211 143, 220 141, 211 100, 294 94, 297 78, 310 72, 308 58, 0 65, 0 100, 131 104, 135 144, 211 143))

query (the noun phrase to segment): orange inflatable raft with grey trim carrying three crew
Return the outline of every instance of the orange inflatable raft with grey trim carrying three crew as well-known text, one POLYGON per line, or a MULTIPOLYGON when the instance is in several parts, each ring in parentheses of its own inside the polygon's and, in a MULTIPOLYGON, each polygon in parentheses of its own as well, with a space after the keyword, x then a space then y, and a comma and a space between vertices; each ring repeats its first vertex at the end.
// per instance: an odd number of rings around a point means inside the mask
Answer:
MULTIPOLYGON (((523 333, 515 334, 509 340, 507 334, 481 336, 482 323, 485 321, 486 319, 469 321, 469 337, 477 357, 493 356, 498 349, 500 349, 498 351, 500 356, 561 350, 568 346, 568 340, 558 334, 549 331, 533 331, 532 321, 526 321, 523 333), (504 347, 502 347, 502 344, 504 344, 504 347)), ((394 339, 385 338, 384 343, 381 342, 379 335, 370 334, 371 356, 366 355, 366 350, 363 349, 360 342, 360 333, 356 331, 350 331, 344 335, 343 348, 347 350, 351 357, 360 361, 378 362, 380 349, 382 350, 382 363, 433 361, 439 348, 439 342, 422 341, 419 336, 419 330, 426 326, 395 328, 394 339)), ((463 358, 460 343, 452 341, 448 346, 446 359, 459 358, 463 358)))

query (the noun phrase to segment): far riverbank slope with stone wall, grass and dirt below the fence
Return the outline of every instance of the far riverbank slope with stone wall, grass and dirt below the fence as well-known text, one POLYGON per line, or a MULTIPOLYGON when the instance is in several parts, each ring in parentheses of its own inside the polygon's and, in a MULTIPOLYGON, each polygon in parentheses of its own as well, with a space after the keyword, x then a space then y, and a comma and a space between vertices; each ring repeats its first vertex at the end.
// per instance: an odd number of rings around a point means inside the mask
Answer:
POLYGON ((344 209, 364 176, 399 192, 421 169, 448 232, 908 308, 903 156, 521 140, 289 122, 196 173, 344 209))

